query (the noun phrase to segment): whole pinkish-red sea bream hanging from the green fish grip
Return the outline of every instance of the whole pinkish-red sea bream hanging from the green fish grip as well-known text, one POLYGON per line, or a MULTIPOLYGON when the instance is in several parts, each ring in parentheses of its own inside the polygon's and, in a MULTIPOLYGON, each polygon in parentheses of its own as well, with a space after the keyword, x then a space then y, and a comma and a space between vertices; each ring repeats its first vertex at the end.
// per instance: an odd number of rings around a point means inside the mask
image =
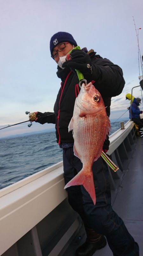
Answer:
POLYGON ((68 128, 69 131, 73 130, 74 155, 81 160, 83 168, 66 184, 65 189, 83 185, 95 205, 92 165, 101 156, 103 143, 111 126, 103 99, 91 82, 86 86, 82 84, 68 128))

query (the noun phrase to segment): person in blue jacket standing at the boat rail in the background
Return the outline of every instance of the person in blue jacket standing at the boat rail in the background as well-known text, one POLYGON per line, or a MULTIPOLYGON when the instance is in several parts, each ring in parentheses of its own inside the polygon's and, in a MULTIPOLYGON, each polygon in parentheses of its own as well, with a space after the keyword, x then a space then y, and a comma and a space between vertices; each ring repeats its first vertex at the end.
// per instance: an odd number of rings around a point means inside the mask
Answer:
POLYGON ((129 118, 131 119, 131 114, 132 114, 132 121, 134 121, 135 124, 139 126, 139 132, 140 129, 143 128, 143 120, 140 119, 140 114, 142 114, 142 111, 140 110, 139 106, 141 103, 140 98, 134 98, 132 105, 129 107, 129 118), (132 107, 132 110, 131 110, 132 107))

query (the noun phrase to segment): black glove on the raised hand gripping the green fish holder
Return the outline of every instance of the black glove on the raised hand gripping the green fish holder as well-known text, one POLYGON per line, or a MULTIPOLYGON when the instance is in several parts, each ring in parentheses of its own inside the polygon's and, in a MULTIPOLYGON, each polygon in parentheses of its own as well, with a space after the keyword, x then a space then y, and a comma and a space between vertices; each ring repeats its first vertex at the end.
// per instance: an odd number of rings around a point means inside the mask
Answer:
POLYGON ((82 50, 72 50, 70 54, 71 60, 63 63, 62 67, 70 67, 78 69, 85 79, 90 80, 92 75, 92 62, 90 56, 82 50))

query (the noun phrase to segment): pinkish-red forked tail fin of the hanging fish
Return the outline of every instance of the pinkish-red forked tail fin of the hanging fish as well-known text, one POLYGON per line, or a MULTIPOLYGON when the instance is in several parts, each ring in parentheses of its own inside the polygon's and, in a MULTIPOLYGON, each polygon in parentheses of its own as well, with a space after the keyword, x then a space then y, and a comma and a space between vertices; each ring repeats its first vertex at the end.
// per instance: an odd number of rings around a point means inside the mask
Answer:
POLYGON ((83 185, 86 191, 90 194, 92 198, 93 204, 96 204, 96 195, 93 181, 93 173, 90 172, 90 175, 83 175, 83 170, 81 170, 71 181, 69 181, 64 189, 75 186, 75 185, 83 185))

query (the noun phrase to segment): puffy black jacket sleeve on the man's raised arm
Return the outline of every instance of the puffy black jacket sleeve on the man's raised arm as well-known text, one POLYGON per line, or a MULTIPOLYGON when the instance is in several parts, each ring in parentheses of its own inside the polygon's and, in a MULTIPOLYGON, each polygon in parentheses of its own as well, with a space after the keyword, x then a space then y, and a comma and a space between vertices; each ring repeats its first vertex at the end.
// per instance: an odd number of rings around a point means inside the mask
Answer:
POLYGON ((92 80, 101 94, 108 97, 119 95, 125 85, 122 69, 106 58, 92 61, 92 80))

